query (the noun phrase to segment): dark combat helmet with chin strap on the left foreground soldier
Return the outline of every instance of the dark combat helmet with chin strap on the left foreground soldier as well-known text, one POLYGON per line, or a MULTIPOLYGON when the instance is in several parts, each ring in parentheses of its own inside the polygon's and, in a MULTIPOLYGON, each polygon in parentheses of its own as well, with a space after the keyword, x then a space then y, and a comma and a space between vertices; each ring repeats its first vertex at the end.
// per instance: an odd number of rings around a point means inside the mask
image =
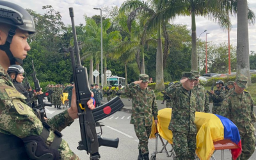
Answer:
POLYGON ((8 1, 0 1, 0 23, 10 25, 6 42, 4 45, 0 45, 0 49, 6 52, 11 65, 15 65, 15 61, 22 65, 23 61, 15 58, 10 51, 10 44, 12 44, 12 38, 16 34, 17 28, 28 31, 29 35, 36 32, 33 18, 21 6, 8 1))

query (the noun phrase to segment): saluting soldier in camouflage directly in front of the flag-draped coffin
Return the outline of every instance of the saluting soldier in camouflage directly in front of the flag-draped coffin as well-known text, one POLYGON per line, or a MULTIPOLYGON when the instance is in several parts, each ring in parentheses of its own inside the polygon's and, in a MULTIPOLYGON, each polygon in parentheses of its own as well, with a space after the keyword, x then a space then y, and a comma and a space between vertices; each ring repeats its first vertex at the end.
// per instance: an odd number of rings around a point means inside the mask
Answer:
POLYGON ((173 149, 177 160, 195 159, 196 98, 191 92, 195 79, 195 74, 192 72, 182 72, 180 82, 172 84, 166 90, 166 94, 174 100, 168 129, 173 133, 173 149))

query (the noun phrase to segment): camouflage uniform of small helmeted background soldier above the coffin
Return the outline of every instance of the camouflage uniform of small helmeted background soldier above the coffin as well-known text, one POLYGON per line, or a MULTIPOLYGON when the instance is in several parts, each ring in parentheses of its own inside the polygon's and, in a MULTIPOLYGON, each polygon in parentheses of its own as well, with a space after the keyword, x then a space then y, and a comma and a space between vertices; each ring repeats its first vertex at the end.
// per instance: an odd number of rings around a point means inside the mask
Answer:
POLYGON ((217 115, 220 114, 221 104, 224 98, 225 98, 225 91, 223 89, 214 90, 214 94, 210 95, 209 101, 213 102, 213 107, 212 107, 213 114, 217 114, 217 115))

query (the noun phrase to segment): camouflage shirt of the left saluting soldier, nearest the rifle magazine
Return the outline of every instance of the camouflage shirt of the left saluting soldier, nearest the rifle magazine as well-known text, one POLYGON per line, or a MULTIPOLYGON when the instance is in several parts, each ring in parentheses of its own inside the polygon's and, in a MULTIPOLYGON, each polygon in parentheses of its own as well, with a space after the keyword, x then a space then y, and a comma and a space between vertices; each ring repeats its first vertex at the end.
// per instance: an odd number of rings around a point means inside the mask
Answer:
POLYGON ((157 120, 158 109, 154 90, 142 90, 139 85, 131 83, 122 89, 122 93, 132 99, 131 124, 151 126, 153 116, 157 120))

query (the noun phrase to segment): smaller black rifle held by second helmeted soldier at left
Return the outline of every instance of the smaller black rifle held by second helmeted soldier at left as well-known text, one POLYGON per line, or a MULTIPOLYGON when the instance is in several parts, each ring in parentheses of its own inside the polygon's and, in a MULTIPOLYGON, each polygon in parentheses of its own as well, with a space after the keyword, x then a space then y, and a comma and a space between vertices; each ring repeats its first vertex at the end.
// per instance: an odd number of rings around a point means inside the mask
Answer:
MULTIPOLYGON (((32 60, 32 66, 33 66, 33 81, 34 81, 34 84, 35 84, 35 92, 37 93, 37 99, 38 99, 38 105, 35 106, 35 109, 39 109, 40 111, 40 119, 42 122, 44 122, 44 117, 47 118, 46 116, 46 113, 45 113, 45 106, 52 106, 52 104, 47 104, 44 102, 44 98, 45 97, 48 97, 49 95, 51 95, 53 93, 52 90, 49 90, 43 94, 38 94, 41 90, 40 88, 40 84, 39 84, 39 81, 38 79, 36 79, 36 72, 35 72, 35 68, 34 68, 34 62, 32 60)), ((37 112, 36 112, 37 113, 37 112)))

